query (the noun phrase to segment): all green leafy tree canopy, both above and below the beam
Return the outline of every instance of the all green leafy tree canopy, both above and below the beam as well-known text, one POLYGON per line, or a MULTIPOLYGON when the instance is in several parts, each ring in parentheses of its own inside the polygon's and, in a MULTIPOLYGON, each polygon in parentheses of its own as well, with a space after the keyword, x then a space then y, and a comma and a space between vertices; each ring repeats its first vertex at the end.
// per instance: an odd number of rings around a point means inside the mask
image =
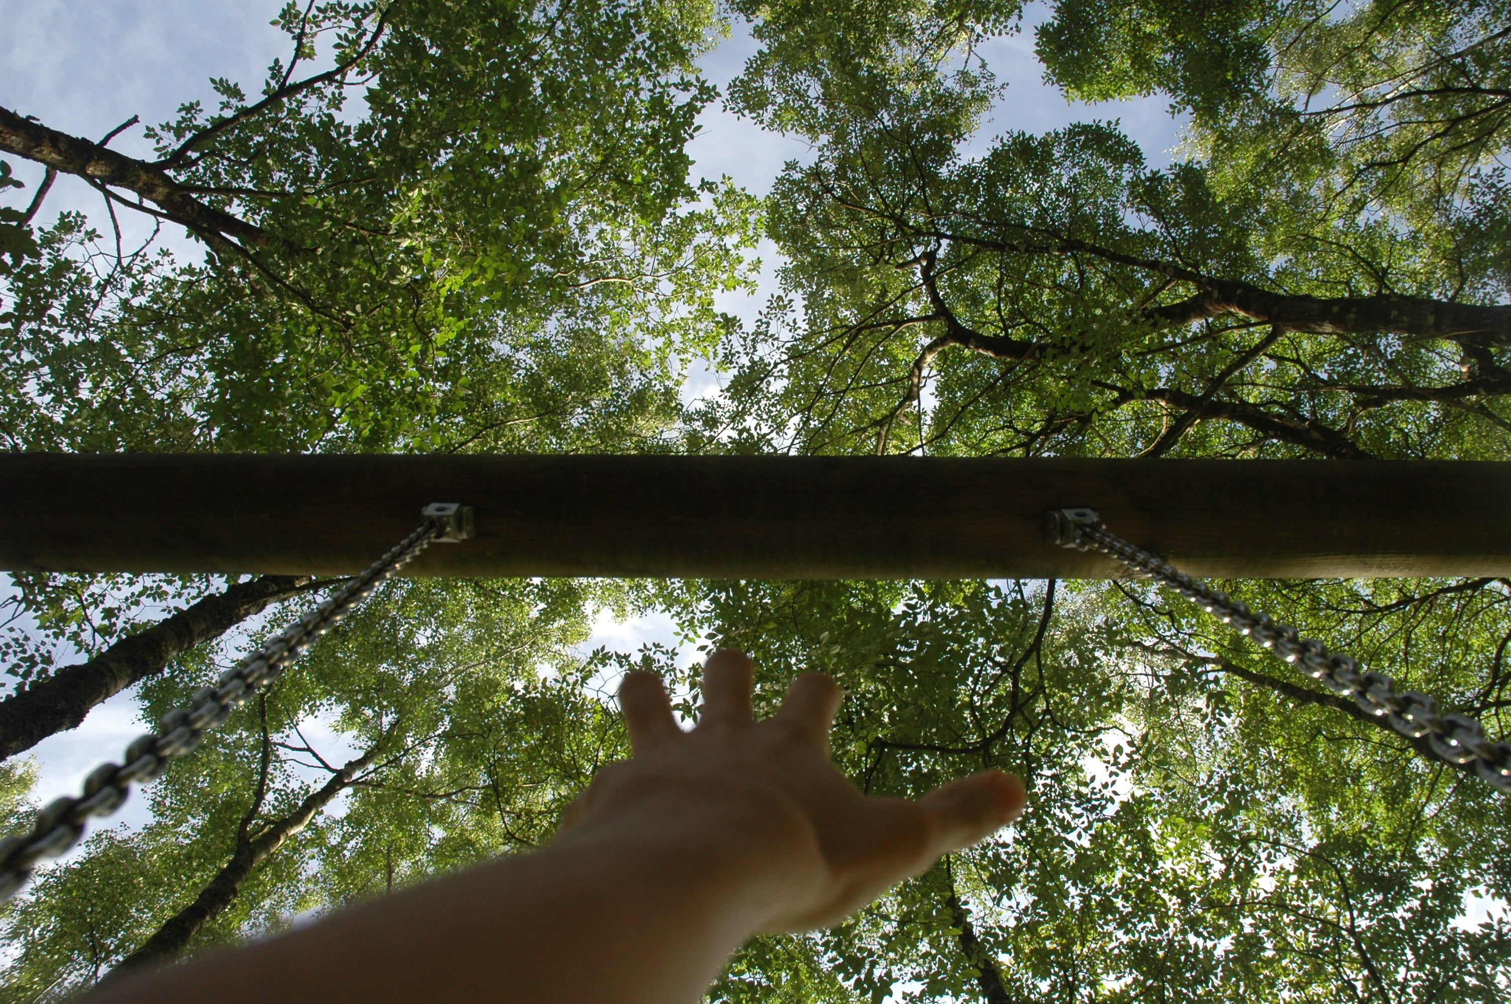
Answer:
MULTIPOLYGON (((724 100, 811 145, 765 202, 689 180, 718 17, 287 8, 260 98, 218 80, 97 178, 202 261, 0 210, 8 448, 1508 459, 1505 3, 1055 6, 1049 80, 1168 101, 1168 166, 1114 121, 1011 128, 984 53, 1021 5, 736 3, 759 50, 724 100), (781 290, 742 326, 716 297, 759 237, 781 290), (695 358, 725 388, 686 405, 695 358)), ((8 157, 68 140, 0 118, 8 157)), ((227 584, 17 577, 12 691, 227 584)), ((1506 580, 1224 587, 1511 734, 1506 580)), ((319 595, 165 658, 144 720, 319 595)), ((1153 587, 532 580, 385 587, 148 824, 3 907, 0 999, 536 845, 626 752, 618 673, 692 717, 715 643, 756 657, 759 711, 833 673, 867 791, 1000 765, 1032 806, 840 927, 757 939, 715 999, 1511 993, 1511 921, 1476 912, 1511 898, 1511 803, 1153 587), (585 652, 598 611, 650 607, 680 652, 585 652)), ((0 770, 20 829, 30 765, 0 770)))

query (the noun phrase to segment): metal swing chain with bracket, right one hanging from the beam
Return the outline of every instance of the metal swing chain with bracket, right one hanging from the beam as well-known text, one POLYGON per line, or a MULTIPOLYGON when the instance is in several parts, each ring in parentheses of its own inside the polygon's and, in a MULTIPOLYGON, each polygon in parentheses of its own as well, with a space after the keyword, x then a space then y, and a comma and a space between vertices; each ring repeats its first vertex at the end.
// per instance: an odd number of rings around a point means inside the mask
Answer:
POLYGON ((1511 794, 1511 743, 1491 743, 1473 719, 1438 714, 1428 694, 1401 690, 1390 676, 1366 670, 1357 660, 1328 652, 1315 639, 1304 639, 1289 624, 1277 624, 1247 604, 1228 598, 1186 575, 1170 562, 1138 548, 1106 528, 1094 509, 1055 509, 1047 515, 1052 542, 1077 551, 1100 551, 1133 569, 1141 578, 1157 580, 1239 634, 1248 636, 1280 658, 1296 666, 1336 694, 1352 699, 1373 722, 1387 725, 1408 740, 1426 740, 1431 753, 1460 770, 1479 775, 1497 791, 1511 794))

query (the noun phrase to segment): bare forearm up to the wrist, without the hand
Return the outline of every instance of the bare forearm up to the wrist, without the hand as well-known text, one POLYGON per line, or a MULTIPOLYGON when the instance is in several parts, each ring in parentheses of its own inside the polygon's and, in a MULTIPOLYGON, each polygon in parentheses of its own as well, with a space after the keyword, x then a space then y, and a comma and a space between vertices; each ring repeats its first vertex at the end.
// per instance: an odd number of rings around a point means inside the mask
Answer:
POLYGON ((754 871, 706 839, 565 841, 145 975, 91 1004, 692 1004, 760 922, 754 871))

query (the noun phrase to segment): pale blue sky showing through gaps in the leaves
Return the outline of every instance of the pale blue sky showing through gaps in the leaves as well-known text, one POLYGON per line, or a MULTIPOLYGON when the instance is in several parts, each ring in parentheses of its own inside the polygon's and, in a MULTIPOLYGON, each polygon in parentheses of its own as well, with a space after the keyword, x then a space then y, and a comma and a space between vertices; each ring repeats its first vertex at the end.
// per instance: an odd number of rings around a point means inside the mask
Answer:
MULTIPOLYGON (((100 139, 133 115, 145 124, 159 124, 174 118, 178 106, 187 101, 198 100, 213 107, 216 95, 210 89, 210 77, 228 77, 254 95, 261 88, 267 65, 289 54, 287 36, 269 24, 278 6, 278 2, 266 0, 0 0, 5 21, 0 32, 0 104, 21 115, 35 115, 53 128, 100 139)), ((1046 11, 1044 5, 1031 5, 1027 24, 1043 20, 1046 11)), ((736 26, 733 38, 704 57, 704 71, 713 83, 724 86, 752 51, 749 35, 736 26)), ((1168 163, 1170 151, 1179 142, 1180 124, 1170 116, 1162 100, 1068 104, 1056 89, 1043 83, 1031 29, 988 42, 982 56, 999 80, 1008 83, 1008 92, 979 142, 1005 130, 1044 131, 1071 121, 1120 119, 1144 146, 1151 165, 1168 163)), ((787 160, 807 156, 807 145, 801 140, 765 133, 718 106, 709 107, 700 124, 703 130, 691 151, 694 171, 713 178, 727 174, 757 195, 771 189, 787 160)), ((112 140, 112 146, 133 156, 151 156, 141 127, 124 131, 112 140)), ((42 172, 14 159, 12 168, 29 186, 18 193, 24 204, 42 172)), ((62 210, 83 211, 97 229, 110 231, 101 196, 82 181, 60 177, 38 222, 45 223, 62 210)), ((128 240, 150 233, 142 219, 133 219, 130 213, 121 213, 119 220, 128 240)), ((172 228, 165 229, 160 240, 184 255, 199 254, 198 245, 172 228)), ((725 310, 746 320, 760 310, 765 294, 775 288, 775 249, 766 245, 760 255, 766 276, 762 291, 724 302, 725 310)), ((715 374, 698 371, 688 391, 716 393, 716 385, 715 374)), ((589 648, 607 645, 635 651, 647 642, 675 646, 671 622, 665 616, 627 622, 604 617, 589 648)), ((694 657, 691 651, 683 654, 684 661, 694 657)), ((79 729, 39 744, 35 749, 41 773, 36 796, 45 802, 73 791, 95 764, 118 755, 141 732, 141 725, 134 701, 125 693, 97 708, 79 729)), ((328 731, 319 741, 328 744, 328 756, 345 752, 340 737, 328 731)), ((145 800, 136 799, 119 818, 139 824, 145 811, 145 800)))

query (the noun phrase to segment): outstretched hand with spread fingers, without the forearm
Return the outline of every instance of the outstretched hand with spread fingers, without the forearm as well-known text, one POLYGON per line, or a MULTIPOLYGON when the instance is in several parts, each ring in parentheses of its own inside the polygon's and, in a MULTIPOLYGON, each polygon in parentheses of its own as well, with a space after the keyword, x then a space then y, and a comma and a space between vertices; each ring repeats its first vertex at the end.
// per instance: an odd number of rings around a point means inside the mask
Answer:
POLYGON ((866 797, 830 762, 839 685, 798 676, 775 717, 756 722, 754 664, 709 657, 703 716, 683 732, 653 673, 620 687, 633 756, 612 764, 562 818, 568 839, 633 833, 700 841, 746 870, 760 932, 845 919, 940 855, 969 847, 1023 811, 1023 782, 987 770, 917 802, 866 797))

